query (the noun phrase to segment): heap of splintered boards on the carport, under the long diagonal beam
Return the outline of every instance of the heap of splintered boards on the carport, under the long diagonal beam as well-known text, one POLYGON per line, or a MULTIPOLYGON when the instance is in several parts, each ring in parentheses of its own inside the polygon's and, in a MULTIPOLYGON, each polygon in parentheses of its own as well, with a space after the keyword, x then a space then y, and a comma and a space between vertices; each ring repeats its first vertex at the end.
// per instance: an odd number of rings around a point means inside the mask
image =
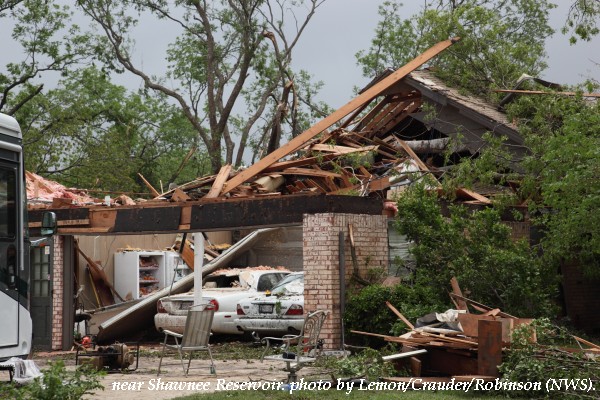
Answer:
MULTIPOLYGON (((389 75, 376 78, 363 92, 389 75)), ((428 71, 414 71, 410 77, 438 84, 428 71)), ((385 199, 390 187, 408 184, 426 175, 433 178, 435 185, 442 173, 438 169, 444 162, 441 153, 449 150, 458 154, 468 149, 426 126, 420 121, 422 117, 416 118, 423 113, 422 105, 419 90, 407 84, 393 85, 389 93, 365 101, 347 118, 337 120, 336 126, 319 131, 299 147, 291 147, 292 151, 287 151, 285 146, 274 151, 265 159, 271 157, 277 162, 255 168, 256 174, 244 169, 234 171, 231 165, 225 165, 218 174, 181 185, 155 200, 290 194, 375 195, 385 199)), ((150 186, 149 189, 156 192, 150 186)), ((487 197, 467 189, 461 189, 458 194, 466 200, 490 202, 487 197)))

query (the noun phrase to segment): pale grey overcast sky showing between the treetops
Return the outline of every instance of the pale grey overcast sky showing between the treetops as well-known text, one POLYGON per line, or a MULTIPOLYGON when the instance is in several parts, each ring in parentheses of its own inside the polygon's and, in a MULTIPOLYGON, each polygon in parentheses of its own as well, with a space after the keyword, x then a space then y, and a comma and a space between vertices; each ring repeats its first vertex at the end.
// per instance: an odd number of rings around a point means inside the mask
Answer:
MULTIPOLYGON (((352 99, 355 86, 362 87, 370 80, 362 76, 355 54, 368 49, 379 21, 378 6, 383 1, 326 0, 317 10, 298 43, 293 67, 307 70, 314 80, 324 82, 319 100, 338 108, 352 99)), ((572 1, 555 0, 559 7, 551 10, 551 21, 557 31, 564 24, 572 1)), ((407 0, 404 4, 402 12, 408 18, 419 11, 423 1, 407 0)), ((9 38, 10 27, 0 26, 0 68, 12 58, 11 52, 16 47, 9 38)), ((155 20, 142 23, 136 32, 135 54, 142 69, 162 75, 164 49, 173 39, 168 29, 155 20)), ((548 38, 546 50, 549 69, 540 78, 566 84, 580 83, 587 77, 600 81, 600 66, 595 64, 600 63, 600 37, 570 46, 568 38, 558 32, 548 38)), ((137 77, 127 74, 117 77, 115 82, 132 89, 141 85, 137 77)))

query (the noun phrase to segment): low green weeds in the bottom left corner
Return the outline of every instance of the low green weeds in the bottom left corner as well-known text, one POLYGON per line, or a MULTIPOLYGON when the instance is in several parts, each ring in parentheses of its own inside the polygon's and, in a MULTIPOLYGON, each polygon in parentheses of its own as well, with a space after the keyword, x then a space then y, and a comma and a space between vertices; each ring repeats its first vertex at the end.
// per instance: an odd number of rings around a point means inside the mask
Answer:
MULTIPOLYGON (((43 376, 32 383, 17 387, 11 386, 7 395, 17 400, 77 400, 96 389, 104 390, 100 384, 103 372, 93 368, 79 367, 67 371, 62 360, 50 364, 42 371, 43 376)), ((9 398, 0 395, 0 398, 9 398)))

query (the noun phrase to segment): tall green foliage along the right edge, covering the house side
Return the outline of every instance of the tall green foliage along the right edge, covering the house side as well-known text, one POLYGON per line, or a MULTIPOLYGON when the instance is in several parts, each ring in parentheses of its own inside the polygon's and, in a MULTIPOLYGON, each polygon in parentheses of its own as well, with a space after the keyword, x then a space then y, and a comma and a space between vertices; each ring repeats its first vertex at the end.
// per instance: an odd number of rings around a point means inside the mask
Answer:
POLYGON ((531 148, 522 198, 544 227, 545 262, 600 275, 600 103, 524 97, 511 107, 531 148))

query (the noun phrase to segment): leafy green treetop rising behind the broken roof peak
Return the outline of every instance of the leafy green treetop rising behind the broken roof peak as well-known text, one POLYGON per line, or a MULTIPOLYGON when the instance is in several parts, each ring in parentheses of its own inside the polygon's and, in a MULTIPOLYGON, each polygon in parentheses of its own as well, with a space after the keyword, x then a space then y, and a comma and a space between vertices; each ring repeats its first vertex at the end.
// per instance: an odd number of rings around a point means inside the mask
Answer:
POLYGON ((490 89, 512 87, 526 73, 536 76, 546 64, 549 1, 437 0, 404 19, 401 4, 385 2, 371 47, 357 54, 365 76, 399 67, 448 37, 461 41, 430 65, 448 84, 489 96, 490 89))

